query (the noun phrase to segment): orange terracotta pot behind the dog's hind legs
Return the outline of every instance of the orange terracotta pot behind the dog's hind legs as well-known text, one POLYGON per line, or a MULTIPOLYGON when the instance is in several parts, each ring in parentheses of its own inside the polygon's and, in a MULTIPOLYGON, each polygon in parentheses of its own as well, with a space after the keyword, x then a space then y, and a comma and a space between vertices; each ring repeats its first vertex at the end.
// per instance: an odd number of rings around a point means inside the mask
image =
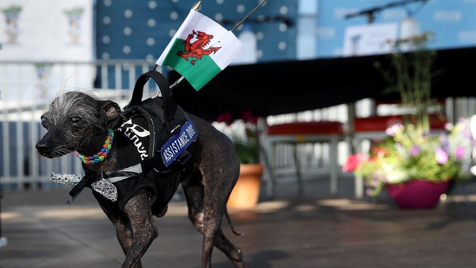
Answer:
POLYGON ((237 184, 228 198, 228 206, 234 208, 253 208, 258 203, 263 165, 241 164, 237 184))

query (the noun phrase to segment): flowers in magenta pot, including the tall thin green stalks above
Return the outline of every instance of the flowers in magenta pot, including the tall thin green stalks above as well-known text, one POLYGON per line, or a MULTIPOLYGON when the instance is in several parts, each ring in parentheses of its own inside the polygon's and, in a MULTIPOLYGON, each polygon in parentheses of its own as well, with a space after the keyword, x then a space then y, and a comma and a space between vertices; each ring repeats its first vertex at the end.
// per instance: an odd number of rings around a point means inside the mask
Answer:
MULTIPOLYGON (((366 193, 377 195, 385 187, 402 208, 430 208, 456 181, 471 178, 472 148, 475 145, 469 124, 460 119, 446 124, 447 133, 430 131, 431 84, 435 76, 432 64, 436 54, 426 49, 431 34, 423 34, 395 43, 391 68, 382 71, 408 112, 404 122, 387 128, 388 138, 371 147, 368 154, 349 157, 344 171, 354 171, 365 179, 366 193), (411 43, 416 50, 403 53, 398 47, 411 43)), ((376 67, 382 70, 380 63, 376 67)))

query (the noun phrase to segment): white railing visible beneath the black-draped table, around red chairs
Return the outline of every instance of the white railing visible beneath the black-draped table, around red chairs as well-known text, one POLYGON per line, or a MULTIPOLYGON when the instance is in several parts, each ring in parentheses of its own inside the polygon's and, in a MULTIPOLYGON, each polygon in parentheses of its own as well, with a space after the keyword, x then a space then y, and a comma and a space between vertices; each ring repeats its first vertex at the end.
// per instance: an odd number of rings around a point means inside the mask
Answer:
MULTIPOLYGON (((355 103, 356 117, 369 117, 372 115, 397 115, 402 114, 400 105, 388 104, 379 105, 378 110, 375 109, 373 101, 370 99, 364 99, 355 103), (377 114, 374 114, 377 112, 377 114)), ((267 119, 268 124, 285 124, 293 122, 310 122, 310 121, 337 121, 344 124, 349 123, 348 118, 348 106, 341 104, 337 106, 331 106, 327 108, 305 111, 299 113, 269 116, 267 119)), ((448 122, 455 123, 460 117, 471 117, 476 114, 476 98, 474 97, 461 97, 461 98, 448 98, 443 109, 439 110, 442 114, 446 115, 448 122)), ((362 141, 362 145, 365 149, 370 147, 370 141, 362 141)), ((296 163, 294 158, 294 152, 297 149, 299 165, 303 173, 312 175, 315 177, 320 171, 329 166, 329 144, 279 144, 275 148, 275 159, 273 161, 276 170, 281 170, 282 175, 291 174, 295 175, 296 163)), ((341 141, 337 147, 338 150, 338 164, 342 165, 349 156, 349 143, 341 141)), ((289 176, 284 176, 284 179, 289 179, 289 176)))

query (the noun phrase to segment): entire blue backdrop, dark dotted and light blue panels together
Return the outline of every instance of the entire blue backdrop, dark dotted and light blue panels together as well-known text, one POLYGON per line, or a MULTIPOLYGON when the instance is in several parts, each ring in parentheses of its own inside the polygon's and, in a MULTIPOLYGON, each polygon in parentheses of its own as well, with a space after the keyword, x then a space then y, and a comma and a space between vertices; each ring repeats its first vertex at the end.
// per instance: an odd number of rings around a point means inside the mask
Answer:
MULTIPOLYGON (((251 24, 258 35, 259 61, 294 60, 297 58, 298 35, 315 36, 311 55, 306 58, 340 56, 345 27, 367 23, 364 17, 345 20, 344 15, 395 0, 269 0, 253 18, 263 15, 289 17, 293 25, 281 22, 251 24), (300 6, 299 6, 300 5, 300 6), (298 7, 300 12, 298 12, 298 7), (306 11, 317 8, 317 18, 309 20, 306 11), (296 26, 300 21, 298 33, 296 26), (312 21, 312 22, 309 22, 312 21), (302 25, 304 24, 316 24, 302 25), (285 48, 279 43, 284 42, 285 48)), ((148 59, 155 61, 187 16, 196 0, 99 0, 96 13, 96 51, 98 59, 148 59)), ((240 19, 258 0, 203 0, 200 12, 208 17, 240 19), (241 6, 244 9, 240 9, 241 6), (241 11, 241 12, 238 12, 241 11)), ((388 9, 376 16, 375 23, 400 22, 408 12, 418 10, 419 3, 407 8, 388 9)), ((316 15, 311 15, 316 16, 316 15)), ((423 31, 435 33, 431 48, 476 45, 476 0, 429 0, 414 18, 423 31)), ((225 25, 232 28, 233 25, 225 25)), ((236 33, 239 34, 239 31, 236 33)))

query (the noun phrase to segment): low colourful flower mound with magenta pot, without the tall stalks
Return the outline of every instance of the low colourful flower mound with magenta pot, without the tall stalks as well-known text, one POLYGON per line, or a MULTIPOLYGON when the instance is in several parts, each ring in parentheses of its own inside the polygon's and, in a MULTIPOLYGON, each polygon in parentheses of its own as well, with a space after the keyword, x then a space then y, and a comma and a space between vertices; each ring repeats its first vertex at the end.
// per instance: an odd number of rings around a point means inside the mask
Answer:
POLYGON ((467 120, 447 124, 447 133, 425 134, 413 124, 394 124, 389 137, 372 146, 369 154, 351 156, 345 171, 365 179, 366 194, 385 187, 402 208, 431 208, 450 183, 471 180, 475 145, 467 120))

